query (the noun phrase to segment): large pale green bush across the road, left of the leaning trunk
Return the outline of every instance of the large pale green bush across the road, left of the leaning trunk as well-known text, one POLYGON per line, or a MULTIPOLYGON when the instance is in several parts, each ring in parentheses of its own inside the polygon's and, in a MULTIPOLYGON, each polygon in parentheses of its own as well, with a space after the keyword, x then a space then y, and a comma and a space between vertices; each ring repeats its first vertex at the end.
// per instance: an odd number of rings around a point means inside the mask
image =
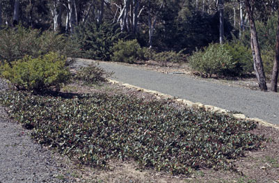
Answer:
POLYGON ((203 50, 197 50, 190 57, 190 65, 206 77, 212 74, 241 77, 253 72, 252 53, 240 42, 209 45, 203 50))

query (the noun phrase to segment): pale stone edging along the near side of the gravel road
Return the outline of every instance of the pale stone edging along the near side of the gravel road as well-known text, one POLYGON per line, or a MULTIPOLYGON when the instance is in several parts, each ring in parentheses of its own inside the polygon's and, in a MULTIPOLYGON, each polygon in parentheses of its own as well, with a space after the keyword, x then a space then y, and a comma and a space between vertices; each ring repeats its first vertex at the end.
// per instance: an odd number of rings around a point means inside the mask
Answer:
MULTIPOLYGON (((226 109, 218 108, 216 106, 204 105, 200 102, 194 103, 194 102, 191 102, 189 100, 175 98, 171 95, 166 95, 164 93, 160 93, 160 92, 155 91, 155 90, 148 90, 148 89, 141 88, 141 87, 138 87, 138 86, 130 85, 128 83, 121 83, 121 82, 115 81, 113 79, 108 79, 108 81, 109 81, 109 83, 120 84, 120 85, 125 86, 127 88, 133 88, 133 89, 136 89, 138 91, 143 91, 145 93, 151 93, 153 95, 156 95, 158 99, 161 99, 161 98, 172 99, 172 100, 175 100, 176 102, 178 102, 180 104, 184 104, 185 106, 188 106, 188 107, 193 108, 193 109, 204 109, 205 111, 209 111, 209 112, 212 112, 212 113, 230 113, 230 111, 228 111, 226 109)), ((273 127, 275 129, 279 129, 279 125, 271 124, 271 123, 266 122, 265 120, 261 120, 259 118, 248 118, 244 114, 241 114, 241 113, 235 113, 235 114, 232 114, 232 116, 236 119, 239 119, 239 120, 255 121, 255 122, 258 122, 260 125, 263 125, 265 127, 273 127)))

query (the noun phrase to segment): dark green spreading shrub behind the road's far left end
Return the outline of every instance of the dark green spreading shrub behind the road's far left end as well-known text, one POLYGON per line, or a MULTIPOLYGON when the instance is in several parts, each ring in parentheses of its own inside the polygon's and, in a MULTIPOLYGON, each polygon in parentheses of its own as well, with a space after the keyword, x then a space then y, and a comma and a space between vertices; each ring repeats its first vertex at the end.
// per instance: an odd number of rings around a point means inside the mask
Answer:
POLYGON ((123 37, 117 24, 81 24, 75 29, 74 40, 79 41, 81 56, 110 61, 113 44, 123 37))

